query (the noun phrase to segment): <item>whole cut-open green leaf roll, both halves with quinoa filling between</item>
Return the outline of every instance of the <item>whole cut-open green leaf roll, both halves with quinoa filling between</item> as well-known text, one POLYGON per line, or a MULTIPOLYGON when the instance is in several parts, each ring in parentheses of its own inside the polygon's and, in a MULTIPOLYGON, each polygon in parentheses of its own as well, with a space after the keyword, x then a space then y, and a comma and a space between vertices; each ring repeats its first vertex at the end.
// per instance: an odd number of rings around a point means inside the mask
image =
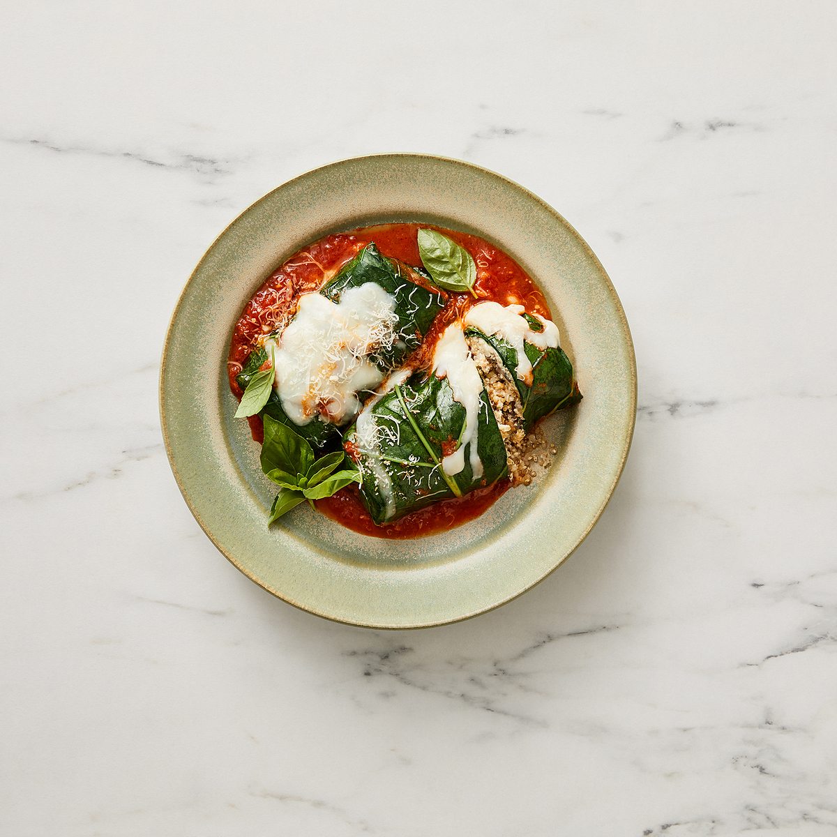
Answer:
POLYGON ((380 526, 506 475, 528 485, 548 463, 535 425, 580 399, 552 321, 478 303, 445 329, 431 372, 390 377, 346 434, 362 502, 380 526))

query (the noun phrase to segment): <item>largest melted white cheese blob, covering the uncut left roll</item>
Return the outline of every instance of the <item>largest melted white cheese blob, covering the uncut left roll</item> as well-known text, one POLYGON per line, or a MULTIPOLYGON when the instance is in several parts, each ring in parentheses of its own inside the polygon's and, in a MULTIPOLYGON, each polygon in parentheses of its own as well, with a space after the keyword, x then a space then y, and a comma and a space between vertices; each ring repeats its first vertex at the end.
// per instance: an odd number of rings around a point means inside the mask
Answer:
POLYGON ((368 355, 398 341, 395 297, 374 282, 347 288, 339 303, 313 293, 300 296, 296 316, 278 341, 274 386, 282 408, 295 424, 343 424, 361 409, 357 393, 372 390, 383 372, 368 355))

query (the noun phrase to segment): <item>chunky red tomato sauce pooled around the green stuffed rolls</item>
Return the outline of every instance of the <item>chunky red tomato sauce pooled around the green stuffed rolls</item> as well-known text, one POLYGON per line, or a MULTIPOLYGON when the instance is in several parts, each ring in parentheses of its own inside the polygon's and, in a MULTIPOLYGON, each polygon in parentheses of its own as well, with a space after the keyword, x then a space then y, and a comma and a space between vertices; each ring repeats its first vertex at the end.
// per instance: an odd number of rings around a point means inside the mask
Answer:
MULTIPOLYGON (((242 392, 235 382, 244 362, 257 344, 259 336, 269 334, 283 326, 296 311, 296 303, 302 294, 320 290, 321 286, 336 274, 343 264, 350 261, 358 250, 374 242, 385 256, 405 264, 421 264, 417 234, 419 229, 436 229, 454 239, 474 257, 477 279, 475 300, 470 294, 448 293, 448 303, 436 316, 429 334, 420 347, 419 358, 429 362, 436 340, 449 324, 465 314, 477 301, 494 301, 503 306, 525 306, 530 314, 540 314, 552 319, 541 291, 514 259, 501 249, 475 235, 459 233, 453 229, 419 223, 390 223, 377 227, 361 227, 348 233, 326 236, 300 250, 276 270, 270 279, 255 292, 244 306, 233 331, 229 347, 227 372, 229 387, 236 398, 242 392)), ((419 366, 423 365, 419 362, 419 366)), ((253 439, 259 444, 264 430, 258 416, 250 417, 253 439)), ((446 531, 474 520, 489 508, 509 487, 508 480, 471 491, 461 498, 439 501, 420 511, 413 511, 398 521, 376 526, 363 507, 357 490, 344 488, 333 497, 316 501, 319 511, 331 520, 352 531, 372 537, 402 539, 425 537, 446 531)))

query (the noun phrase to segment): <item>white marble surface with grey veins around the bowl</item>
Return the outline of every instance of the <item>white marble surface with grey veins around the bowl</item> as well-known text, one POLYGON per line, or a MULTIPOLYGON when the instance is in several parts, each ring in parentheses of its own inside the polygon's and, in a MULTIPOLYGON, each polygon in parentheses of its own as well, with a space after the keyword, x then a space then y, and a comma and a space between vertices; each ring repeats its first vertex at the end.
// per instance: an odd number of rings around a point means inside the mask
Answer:
POLYGON ((0 833, 837 834, 834 3, 6 7, 0 833), (407 633, 239 574, 157 418, 214 237, 380 151, 557 208, 639 367, 582 547, 407 633))

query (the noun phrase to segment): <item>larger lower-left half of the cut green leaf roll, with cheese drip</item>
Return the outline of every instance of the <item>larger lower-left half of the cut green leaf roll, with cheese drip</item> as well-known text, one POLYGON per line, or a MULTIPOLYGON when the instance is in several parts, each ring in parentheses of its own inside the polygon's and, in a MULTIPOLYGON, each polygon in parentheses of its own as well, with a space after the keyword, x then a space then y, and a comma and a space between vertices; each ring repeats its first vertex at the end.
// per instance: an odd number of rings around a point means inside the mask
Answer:
POLYGON ((429 372, 397 372, 357 417, 344 447, 378 526, 506 473, 506 448, 460 323, 444 331, 429 372))

